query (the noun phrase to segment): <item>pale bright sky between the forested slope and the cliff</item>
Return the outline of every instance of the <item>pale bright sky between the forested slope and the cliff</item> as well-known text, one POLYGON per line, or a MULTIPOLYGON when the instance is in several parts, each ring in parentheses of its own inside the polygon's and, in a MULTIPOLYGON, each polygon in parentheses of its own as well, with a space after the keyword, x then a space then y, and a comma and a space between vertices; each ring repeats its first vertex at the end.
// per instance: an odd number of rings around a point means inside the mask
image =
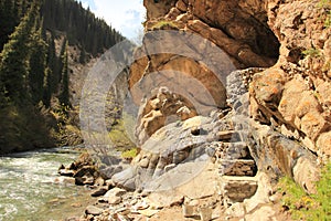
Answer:
POLYGON ((142 0, 78 0, 97 17, 128 39, 136 39, 142 30, 146 10, 142 0))

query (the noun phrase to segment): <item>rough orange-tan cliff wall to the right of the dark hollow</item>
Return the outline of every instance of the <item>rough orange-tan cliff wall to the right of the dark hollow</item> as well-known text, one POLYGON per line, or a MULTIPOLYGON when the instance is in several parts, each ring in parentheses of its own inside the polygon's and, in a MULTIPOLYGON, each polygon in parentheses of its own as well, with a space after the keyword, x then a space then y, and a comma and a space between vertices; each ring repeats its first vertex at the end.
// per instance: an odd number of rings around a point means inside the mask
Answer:
POLYGON ((284 134, 323 159, 330 157, 331 141, 327 8, 319 1, 268 2, 268 23, 281 43, 280 56, 250 85, 253 116, 267 124, 274 118, 284 125, 284 134))

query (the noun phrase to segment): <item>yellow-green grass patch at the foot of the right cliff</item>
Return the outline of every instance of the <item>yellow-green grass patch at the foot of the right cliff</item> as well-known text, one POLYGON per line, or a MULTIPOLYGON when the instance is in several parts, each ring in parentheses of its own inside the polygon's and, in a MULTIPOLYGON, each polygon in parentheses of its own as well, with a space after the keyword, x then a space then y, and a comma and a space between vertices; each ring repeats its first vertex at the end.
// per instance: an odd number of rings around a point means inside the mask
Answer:
POLYGON ((285 193, 282 204, 289 208, 293 220, 331 220, 331 162, 322 169, 316 194, 307 194, 288 177, 281 178, 278 186, 285 193))

